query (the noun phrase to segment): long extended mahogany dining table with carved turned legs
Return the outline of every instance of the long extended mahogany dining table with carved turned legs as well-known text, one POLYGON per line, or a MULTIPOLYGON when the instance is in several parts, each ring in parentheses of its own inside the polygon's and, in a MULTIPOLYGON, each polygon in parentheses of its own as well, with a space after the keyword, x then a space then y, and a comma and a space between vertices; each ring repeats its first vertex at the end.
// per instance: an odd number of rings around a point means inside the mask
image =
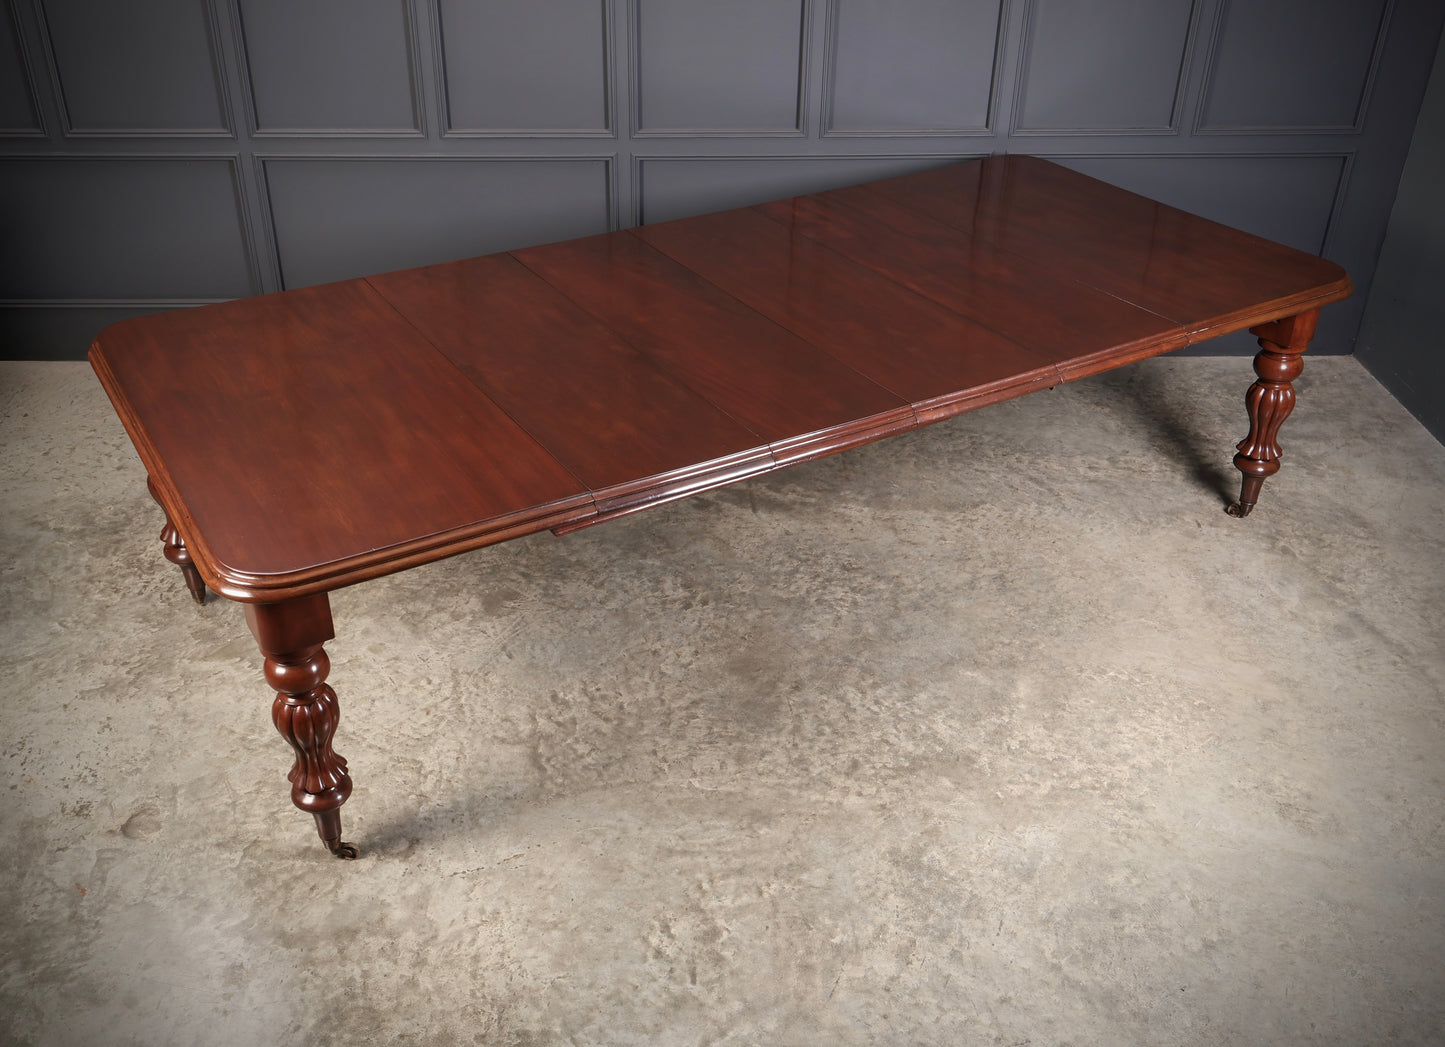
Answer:
POLYGON ((197 601, 238 601, 341 858, 328 594, 1259 336, 1246 516, 1337 264, 1029 156, 127 319, 90 349, 197 601))

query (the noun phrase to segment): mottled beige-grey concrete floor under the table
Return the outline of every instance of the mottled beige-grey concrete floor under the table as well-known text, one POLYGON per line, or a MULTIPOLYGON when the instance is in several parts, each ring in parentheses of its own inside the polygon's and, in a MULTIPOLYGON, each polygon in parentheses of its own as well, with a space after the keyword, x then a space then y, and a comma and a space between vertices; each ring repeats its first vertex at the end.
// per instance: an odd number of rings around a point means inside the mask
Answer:
POLYGON ((338 592, 292 809, 84 364, 0 365, 0 1043, 1445 1040, 1445 448, 1157 360, 338 592))

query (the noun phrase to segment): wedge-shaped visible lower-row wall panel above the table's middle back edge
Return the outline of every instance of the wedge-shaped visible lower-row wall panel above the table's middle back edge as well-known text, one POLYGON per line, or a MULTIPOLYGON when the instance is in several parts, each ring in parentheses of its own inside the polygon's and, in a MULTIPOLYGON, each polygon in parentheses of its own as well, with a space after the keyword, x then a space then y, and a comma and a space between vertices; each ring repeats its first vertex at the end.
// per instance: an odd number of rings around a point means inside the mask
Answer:
POLYGON ((637 165, 639 222, 725 211, 770 199, 837 189, 876 178, 906 175, 964 156, 696 156, 647 159, 637 165))

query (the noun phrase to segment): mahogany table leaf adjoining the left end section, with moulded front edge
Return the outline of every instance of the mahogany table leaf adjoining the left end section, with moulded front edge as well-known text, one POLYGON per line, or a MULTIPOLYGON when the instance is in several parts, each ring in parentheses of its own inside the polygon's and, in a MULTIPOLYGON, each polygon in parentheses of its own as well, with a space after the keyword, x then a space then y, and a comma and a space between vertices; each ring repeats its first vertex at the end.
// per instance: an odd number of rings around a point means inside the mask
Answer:
POLYGON ((370 277, 600 511, 773 468, 767 440, 509 256, 370 277))

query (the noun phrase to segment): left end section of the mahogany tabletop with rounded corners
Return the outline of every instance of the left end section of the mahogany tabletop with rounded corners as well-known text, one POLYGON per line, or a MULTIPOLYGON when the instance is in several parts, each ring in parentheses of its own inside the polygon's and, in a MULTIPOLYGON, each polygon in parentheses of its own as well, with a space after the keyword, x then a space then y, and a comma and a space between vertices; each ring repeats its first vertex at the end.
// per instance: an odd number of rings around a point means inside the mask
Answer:
POLYGON ((591 505, 363 280, 123 321, 97 352, 202 573, 283 575, 591 505))

